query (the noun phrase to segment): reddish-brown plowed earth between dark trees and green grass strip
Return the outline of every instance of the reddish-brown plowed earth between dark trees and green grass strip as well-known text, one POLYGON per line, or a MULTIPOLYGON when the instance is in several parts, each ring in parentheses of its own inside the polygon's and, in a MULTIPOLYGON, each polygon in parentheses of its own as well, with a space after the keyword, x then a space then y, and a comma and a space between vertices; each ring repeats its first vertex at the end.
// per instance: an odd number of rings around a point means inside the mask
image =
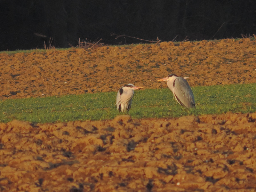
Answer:
POLYGON ((147 88, 170 73, 191 86, 255 83, 256 40, 173 42, 127 47, 0 54, 0 99, 147 88))

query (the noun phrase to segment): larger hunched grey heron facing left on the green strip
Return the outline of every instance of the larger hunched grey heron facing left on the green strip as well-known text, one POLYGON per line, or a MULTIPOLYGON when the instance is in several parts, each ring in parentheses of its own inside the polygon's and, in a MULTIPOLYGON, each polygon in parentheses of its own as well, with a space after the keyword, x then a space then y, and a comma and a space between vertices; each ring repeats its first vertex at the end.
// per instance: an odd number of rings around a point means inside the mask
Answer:
POLYGON ((167 86, 173 92, 173 96, 180 105, 186 108, 196 108, 194 94, 186 80, 187 78, 170 74, 157 81, 167 81, 167 86))

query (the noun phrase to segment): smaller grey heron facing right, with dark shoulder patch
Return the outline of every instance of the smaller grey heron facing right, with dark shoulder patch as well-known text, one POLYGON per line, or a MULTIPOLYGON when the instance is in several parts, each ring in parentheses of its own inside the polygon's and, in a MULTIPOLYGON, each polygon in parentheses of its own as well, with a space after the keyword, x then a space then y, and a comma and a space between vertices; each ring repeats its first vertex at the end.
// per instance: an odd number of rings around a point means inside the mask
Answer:
POLYGON ((129 111, 132 105, 132 97, 134 90, 141 89, 142 87, 135 87, 129 83, 122 86, 116 95, 116 108, 119 112, 129 111))

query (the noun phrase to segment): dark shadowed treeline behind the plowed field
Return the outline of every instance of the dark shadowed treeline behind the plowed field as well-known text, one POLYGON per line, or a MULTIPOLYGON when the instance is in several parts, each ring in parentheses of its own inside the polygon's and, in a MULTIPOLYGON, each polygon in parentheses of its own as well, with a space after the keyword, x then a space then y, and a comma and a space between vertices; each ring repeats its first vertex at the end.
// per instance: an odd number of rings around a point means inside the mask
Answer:
POLYGON ((131 44, 256 33, 255 0, 0 0, 0 50, 131 44))

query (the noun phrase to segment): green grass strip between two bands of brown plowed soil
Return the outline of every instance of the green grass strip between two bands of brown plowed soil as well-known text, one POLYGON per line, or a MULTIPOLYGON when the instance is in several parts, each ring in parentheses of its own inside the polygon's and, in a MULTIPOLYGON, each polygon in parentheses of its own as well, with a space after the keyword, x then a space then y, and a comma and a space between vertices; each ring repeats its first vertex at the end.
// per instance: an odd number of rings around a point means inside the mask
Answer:
MULTIPOLYGON (((192 87, 196 108, 181 107, 168 88, 135 91, 129 115, 133 118, 248 113, 256 111, 256 84, 192 87)), ((0 100, 0 122, 13 119, 32 123, 113 119, 122 114, 115 106, 116 92, 62 97, 0 100)))

